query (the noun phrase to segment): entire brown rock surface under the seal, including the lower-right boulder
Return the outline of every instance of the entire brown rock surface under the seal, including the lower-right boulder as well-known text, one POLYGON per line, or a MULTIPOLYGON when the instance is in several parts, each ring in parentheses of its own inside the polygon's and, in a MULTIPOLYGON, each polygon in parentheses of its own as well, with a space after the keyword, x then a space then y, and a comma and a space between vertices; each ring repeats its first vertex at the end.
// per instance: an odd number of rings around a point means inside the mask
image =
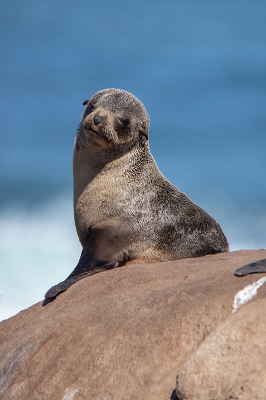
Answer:
POLYGON ((266 399, 266 274, 234 276, 266 257, 241 250, 132 264, 84 278, 54 301, 0 323, 0 398, 266 399), (172 395, 172 398, 175 396, 172 395))

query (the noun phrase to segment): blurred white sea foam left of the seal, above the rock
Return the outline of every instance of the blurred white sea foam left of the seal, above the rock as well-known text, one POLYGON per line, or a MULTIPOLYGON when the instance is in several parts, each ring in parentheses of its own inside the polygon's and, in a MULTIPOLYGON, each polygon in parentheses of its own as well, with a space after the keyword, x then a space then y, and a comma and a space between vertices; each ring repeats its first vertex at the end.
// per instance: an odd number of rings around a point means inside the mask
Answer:
POLYGON ((81 246, 75 231, 71 196, 33 211, 5 209, 0 214, 0 320, 44 297, 76 265, 81 246))

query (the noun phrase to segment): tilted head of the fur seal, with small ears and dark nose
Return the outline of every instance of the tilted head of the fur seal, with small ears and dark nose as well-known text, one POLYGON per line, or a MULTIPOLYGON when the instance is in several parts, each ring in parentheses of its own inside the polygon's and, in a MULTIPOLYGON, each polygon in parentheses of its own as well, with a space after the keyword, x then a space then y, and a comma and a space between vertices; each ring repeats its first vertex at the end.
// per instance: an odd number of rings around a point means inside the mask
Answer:
POLYGON ((128 151, 148 142, 149 116, 142 102, 121 89, 98 91, 82 114, 80 128, 89 147, 128 151))

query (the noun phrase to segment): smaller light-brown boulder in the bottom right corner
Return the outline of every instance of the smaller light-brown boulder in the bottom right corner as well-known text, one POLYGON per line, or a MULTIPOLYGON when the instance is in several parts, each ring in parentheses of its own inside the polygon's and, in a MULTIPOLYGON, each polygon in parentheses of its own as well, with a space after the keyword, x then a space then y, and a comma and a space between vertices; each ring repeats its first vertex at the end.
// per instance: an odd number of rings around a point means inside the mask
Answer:
POLYGON ((265 400, 266 298, 229 316, 184 363, 177 380, 182 400, 265 400))

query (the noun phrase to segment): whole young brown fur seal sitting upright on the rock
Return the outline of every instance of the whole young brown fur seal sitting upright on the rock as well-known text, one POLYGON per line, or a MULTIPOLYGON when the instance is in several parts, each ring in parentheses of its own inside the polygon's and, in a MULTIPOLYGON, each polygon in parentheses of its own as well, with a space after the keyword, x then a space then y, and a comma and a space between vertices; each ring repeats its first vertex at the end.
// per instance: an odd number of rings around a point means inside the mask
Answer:
POLYGON ((83 105, 73 153, 74 218, 83 249, 73 272, 45 297, 128 261, 228 251, 214 218, 158 169, 142 102, 128 91, 105 89, 83 105))

